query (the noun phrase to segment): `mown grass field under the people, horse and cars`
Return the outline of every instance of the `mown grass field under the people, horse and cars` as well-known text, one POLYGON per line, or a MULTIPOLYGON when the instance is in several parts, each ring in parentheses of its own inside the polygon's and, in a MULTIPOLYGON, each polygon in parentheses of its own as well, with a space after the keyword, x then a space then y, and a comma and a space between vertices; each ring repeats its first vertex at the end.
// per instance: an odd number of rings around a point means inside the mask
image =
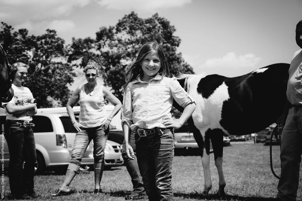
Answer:
MULTIPOLYGON (((280 175, 280 147, 273 146, 273 168, 280 175)), ((269 146, 263 144, 232 144, 224 147, 223 170, 226 180, 225 200, 268 200, 277 194, 278 179, 271 173, 269 163, 269 146)), ((302 166, 302 164, 301 164, 302 166)), ((220 200, 215 196, 218 190, 218 173, 214 164, 214 155, 210 155, 211 178, 213 188, 210 191, 210 200, 220 200)), ((206 200, 201 197, 204 186, 201 157, 197 154, 175 155, 173 161, 172 186, 175 200, 206 200)), ((12 199, 8 184, 7 172, 5 174, 4 200, 12 199)), ((130 176, 125 166, 104 171, 101 188, 104 194, 95 195, 93 172, 81 172, 76 175, 70 185, 72 194, 61 197, 51 197, 64 175, 56 175, 54 172, 45 172, 35 176, 35 191, 39 196, 35 200, 111 200, 124 199, 124 191, 132 190, 130 176)), ((298 198, 302 198, 302 168, 300 169, 300 185, 298 198)), ((146 199, 145 199, 146 200, 146 199)))

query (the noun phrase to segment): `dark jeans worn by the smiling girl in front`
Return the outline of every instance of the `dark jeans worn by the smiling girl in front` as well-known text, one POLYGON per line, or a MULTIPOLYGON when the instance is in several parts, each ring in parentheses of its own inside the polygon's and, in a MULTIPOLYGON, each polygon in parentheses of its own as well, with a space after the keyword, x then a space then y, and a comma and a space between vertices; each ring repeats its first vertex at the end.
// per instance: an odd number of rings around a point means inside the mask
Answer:
POLYGON ((172 129, 146 137, 135 134, 137 163, 149 200, 173 200, 172 161, 174 137, 172 129))

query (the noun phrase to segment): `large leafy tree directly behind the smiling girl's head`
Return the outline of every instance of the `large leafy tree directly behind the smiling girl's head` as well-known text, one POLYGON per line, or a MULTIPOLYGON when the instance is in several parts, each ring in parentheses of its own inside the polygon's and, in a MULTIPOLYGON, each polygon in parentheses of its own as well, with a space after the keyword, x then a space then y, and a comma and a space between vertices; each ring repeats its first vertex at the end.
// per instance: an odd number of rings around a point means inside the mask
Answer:
POLYGON ((68 62, 82 58, 81 67, 85 67, 89 59, 101 64, 104 83, 110 86, 115 96, 123 99, 121 87, 125 84, 127 67, 135 60, 140 48, 151 40, 159 42, 165 52, 170 73, 193 74, 193 69, 177 53, 181 39, 174 36, 175 27, 159 17, 142 19, 134 12, 125 15, 115 26, 100 27, 96 39, 72 39, 68 47, 68 62))

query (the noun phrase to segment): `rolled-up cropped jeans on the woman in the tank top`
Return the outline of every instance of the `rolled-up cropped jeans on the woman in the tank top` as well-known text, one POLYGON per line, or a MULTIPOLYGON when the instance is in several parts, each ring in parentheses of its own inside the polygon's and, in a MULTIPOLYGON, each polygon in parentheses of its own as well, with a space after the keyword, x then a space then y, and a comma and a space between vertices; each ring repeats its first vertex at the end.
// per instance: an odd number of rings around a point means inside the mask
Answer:
POLYGON ((67 169, 76 172, 79 171, 82 158, 91 140, 93 140, 94 168, 99 170, 104 169, 104 151, 109 133, 109 126, 106 130, 104 130, 104 126, 93 128, 81 127, 81 130, 82 131, 76 133, 72 147, 71 161, 67 169))

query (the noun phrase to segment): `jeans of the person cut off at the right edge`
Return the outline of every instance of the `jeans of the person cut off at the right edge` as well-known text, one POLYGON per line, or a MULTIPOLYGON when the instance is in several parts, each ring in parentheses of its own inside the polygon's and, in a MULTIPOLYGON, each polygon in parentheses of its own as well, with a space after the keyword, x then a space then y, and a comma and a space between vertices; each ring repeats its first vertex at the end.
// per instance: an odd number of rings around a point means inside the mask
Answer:
POLYGON ((281 176, 278 183, 277 197, 296 200, 299 186, 299 171, 302 154, 302 106, 292 107, 281 139, 281 176))

